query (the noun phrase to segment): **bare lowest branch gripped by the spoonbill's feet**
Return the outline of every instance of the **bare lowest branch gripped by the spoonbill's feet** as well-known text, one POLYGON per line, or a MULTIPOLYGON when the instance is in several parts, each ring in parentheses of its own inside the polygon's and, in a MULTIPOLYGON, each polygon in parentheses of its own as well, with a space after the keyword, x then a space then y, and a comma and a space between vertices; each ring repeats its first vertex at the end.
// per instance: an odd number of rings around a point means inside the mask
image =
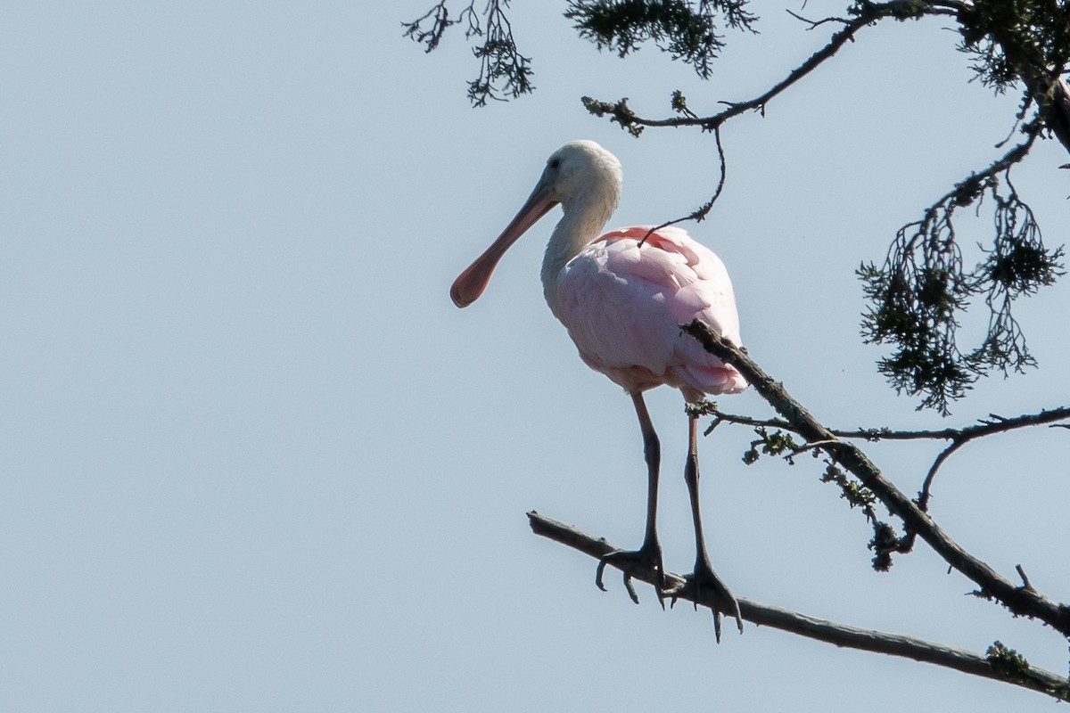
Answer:
MULTIPOLYGON (((532 511, 528 513, 532 531, 535 534, 554 540, 578 549, 595 559, 600 559, 616 547, 605 538, 595 538, 575 527, 565 525, 545 515, 532 511)), ((613 562, 617 567, 617 562, 613 562)), ((657 580, 657 573, 647 567, 635 562, 622 561, 623 571, 628 575, 642 579, 651 585, 657 580)), ((672 587, 683 584, 684 578, 671 572, 666 573, 667 584, 672 587)), ((705 598, 688 601, 709 606, 715 602, 706 602, 705 598)), ((953 668, 973 676, 980 676, 996 681, 1005 681, 1031 691, 1046 694, 1058 700, 1070 701, 1070 681, 1051 671, 1028 665, 1021 656, 1002 645, 989 650, 988 655, 973 653, 964 649, 935 644, 913 636, 888 634, 868 629, 858 629, 839 624, 814 617, 808 617, 790 609, 768 604, 761 604, 745 598, 738 598, 739 611, 744 619, 751 623, 771 626, 781 631, 806 636, 807 638, 826 641, 838 647, 885 653, 892 656, 903 656, 936 666, 953 668)))

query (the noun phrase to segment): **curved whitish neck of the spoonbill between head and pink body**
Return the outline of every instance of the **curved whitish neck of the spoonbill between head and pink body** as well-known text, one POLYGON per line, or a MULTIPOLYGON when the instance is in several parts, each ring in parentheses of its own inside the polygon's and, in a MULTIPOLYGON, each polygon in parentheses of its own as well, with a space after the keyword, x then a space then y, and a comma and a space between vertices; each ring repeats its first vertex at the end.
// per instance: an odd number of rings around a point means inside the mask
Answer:
POLYGON ((542 294, 553 313, 557 313, 557 276, 601 233, 616 208, 620 189, 588 191, 562 203, 565 215, 553 229, 542 258, 542 294))

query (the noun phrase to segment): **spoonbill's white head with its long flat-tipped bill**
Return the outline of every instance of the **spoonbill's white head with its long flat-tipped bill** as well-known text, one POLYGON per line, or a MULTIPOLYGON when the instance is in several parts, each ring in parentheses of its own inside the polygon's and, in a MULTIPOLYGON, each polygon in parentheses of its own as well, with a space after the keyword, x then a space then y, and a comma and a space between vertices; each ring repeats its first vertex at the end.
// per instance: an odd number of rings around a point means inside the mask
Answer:
POLYGON ((586 244, 593 239, 616 208, 622 180, 621 161, 594 141, 569 141, 553 152, 520 212, 454 281, 449 290, 454 304, 468 307, 478 299, 509 246, 559 203, 566 219, 575 221, 572 242, 586 244))

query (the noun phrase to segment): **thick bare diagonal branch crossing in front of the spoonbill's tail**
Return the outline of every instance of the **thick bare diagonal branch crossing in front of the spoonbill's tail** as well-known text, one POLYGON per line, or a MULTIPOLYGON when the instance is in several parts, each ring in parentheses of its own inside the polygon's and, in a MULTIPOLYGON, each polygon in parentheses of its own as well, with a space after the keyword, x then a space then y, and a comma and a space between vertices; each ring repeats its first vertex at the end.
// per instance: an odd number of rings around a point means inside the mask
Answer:
POLYGON ((817 447, 872 491, 892 514, 903 521, 910 532, 916 532, 948 564, 976 583, 980 587, 980 595, 995 599, 1014 615, 1040 619, 1065 636, 1070 636, 1070 607, 1031 588, 1015 587, 987 563, 963 549, 928 513, 889 482, 857 446, 839 440, 795 401, 782 384, 775 382, 729 340, 698 320, 681 325, 681 328, 699 340, 707 352, 738 369, 754 390, 792 423, 802 437, 814 444, 821 441, 817 447))

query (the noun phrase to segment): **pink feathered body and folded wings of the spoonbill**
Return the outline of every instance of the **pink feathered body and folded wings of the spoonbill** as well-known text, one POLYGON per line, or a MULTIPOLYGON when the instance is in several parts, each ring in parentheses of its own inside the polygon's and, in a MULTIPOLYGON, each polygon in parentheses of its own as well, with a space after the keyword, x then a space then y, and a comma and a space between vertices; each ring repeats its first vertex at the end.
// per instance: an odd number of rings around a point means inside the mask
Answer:
POLYGON ((698 317, 739 344, 739 316, 728 270, 678 228, 614 230, 594 241, 557 276, 557 317, 592 369, 630 392, 661 384, 688 401, 736 393, 747 382, 681 334, 698 317))

